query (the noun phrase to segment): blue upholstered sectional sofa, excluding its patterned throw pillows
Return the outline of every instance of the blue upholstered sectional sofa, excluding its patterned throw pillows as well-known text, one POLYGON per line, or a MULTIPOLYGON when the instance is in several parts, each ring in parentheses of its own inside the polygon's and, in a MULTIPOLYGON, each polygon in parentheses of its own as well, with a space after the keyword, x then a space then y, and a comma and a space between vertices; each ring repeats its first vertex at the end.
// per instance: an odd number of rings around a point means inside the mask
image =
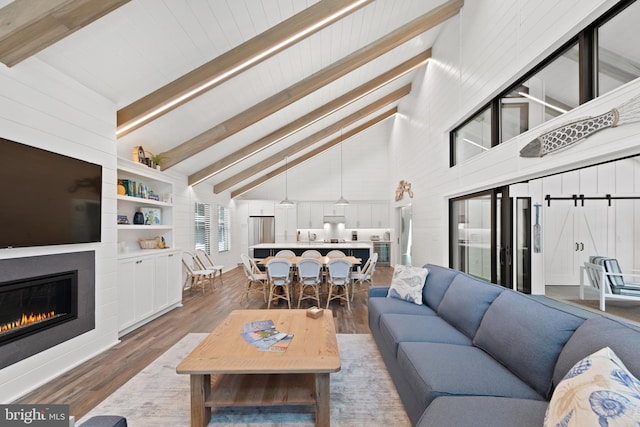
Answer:
POLYGON ((369 289, 369 327, 411 422, 543 424, 554 387, 609 346, 640 378, 640 329, 425 265, 423 305, 369 289))

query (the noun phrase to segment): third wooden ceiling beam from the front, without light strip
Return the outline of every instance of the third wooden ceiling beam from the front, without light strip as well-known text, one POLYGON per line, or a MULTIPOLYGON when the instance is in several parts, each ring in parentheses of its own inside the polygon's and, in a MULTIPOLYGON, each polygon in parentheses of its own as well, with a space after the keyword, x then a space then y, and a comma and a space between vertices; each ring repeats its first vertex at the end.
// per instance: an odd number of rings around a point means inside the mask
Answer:
POLYGON ((272 113, 300 100, 384 53, 455 16, 463 0, 450 0, 386 36, 323 68, 287 89, 244 110, 190 140, 162 153, 165 169, 206 150, 272 113))

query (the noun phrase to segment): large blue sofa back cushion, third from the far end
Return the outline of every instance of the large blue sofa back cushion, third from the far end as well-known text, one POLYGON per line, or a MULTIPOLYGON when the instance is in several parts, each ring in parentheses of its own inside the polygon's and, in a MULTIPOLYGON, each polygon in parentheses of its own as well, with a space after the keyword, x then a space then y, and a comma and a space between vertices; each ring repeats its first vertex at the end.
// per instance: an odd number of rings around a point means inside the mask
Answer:
POLYGON ((558 355, 583 321, 509 290, 491 304, 473 344, 550 396, 558 355))

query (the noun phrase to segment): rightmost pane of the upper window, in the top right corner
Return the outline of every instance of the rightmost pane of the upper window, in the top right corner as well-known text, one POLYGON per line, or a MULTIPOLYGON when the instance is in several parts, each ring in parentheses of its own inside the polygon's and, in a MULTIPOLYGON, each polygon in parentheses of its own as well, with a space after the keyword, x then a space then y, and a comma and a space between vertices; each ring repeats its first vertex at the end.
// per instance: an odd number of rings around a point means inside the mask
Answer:
POLYGON ((640 2, 598 27, 598 95, 640 76, 640 2))

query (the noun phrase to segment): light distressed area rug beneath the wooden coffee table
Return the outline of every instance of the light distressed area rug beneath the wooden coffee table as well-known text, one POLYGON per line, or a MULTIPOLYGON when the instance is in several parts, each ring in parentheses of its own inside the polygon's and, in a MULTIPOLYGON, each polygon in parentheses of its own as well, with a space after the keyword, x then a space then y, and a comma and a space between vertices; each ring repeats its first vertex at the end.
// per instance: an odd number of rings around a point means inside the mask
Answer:
MULTIPOLYGON (((189 376, 176 366, 207 334, 188 334, 84 416, 121 415, 130 427, 189 426, 189 376)), ((373 338, 338 334, 342 369, 331 374, 331 425, 411 426, 373 338)), ((214 412, 209 427, 314 425, 295 408, 238 408, 214 412)))

